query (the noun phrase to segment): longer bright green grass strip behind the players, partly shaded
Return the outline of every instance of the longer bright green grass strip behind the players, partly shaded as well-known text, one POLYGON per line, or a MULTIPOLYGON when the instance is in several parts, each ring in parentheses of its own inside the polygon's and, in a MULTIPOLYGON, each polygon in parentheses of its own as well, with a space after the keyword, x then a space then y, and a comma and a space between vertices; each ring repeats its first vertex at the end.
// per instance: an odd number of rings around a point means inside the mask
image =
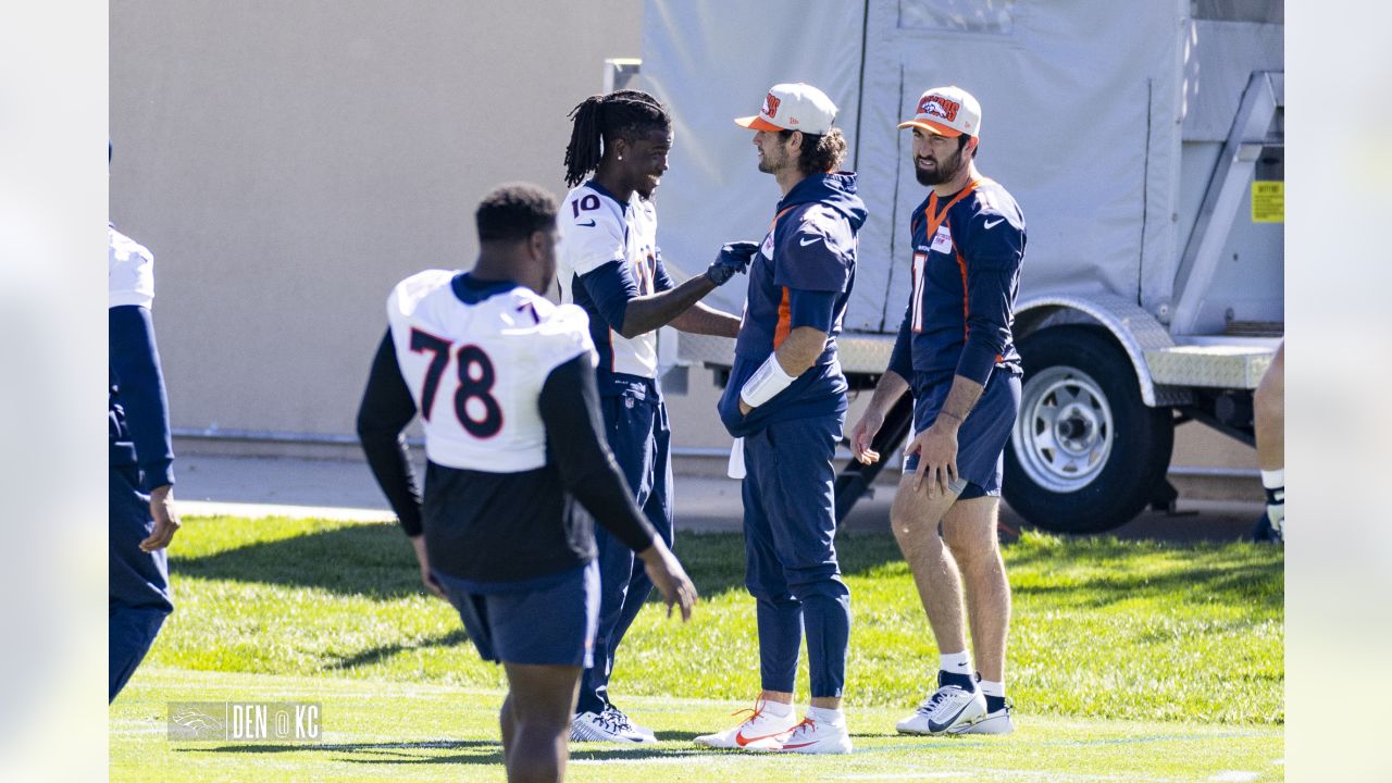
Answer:
MULTIPOLYGON (((685 535, 703 602, 682 626, 649 607, 612 692, 749 699, 759 688, 739 535, 685 535)), ((852 589, 851 708, 912 708, 933 645, 889 535, 838 538, 852 589)), ((1015 591, 1011 695, 1025 715, 1281 724, 1282 553, 1027 534, 1005 549, 1015 591)), ((498 690, 447 603, 419 588, 394 525, 193 518, 171 553, 178 609, 149 665, 498 690)), ((806 673, 799 677, 806 687, 806 673)), ((806 698, 806 694, 799 694, 806 698)))

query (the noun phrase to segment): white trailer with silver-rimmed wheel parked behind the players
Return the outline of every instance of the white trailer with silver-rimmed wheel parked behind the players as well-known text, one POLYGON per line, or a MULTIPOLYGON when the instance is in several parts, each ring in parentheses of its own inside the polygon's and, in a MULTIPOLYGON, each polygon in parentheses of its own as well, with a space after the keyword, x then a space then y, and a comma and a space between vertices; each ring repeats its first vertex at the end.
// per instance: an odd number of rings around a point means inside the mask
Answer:
MULTIPOLYGON (((1004 492, 1033 524, 1101 531, 1171 504, 1176 422, 1251 443, 1251 390, 1285 329, 1282 3, 649 0, 642 54, 675 118, 657 198, 678 263, 767 230, 777 188, 731 117, 784 81, 841 107, 870 210, 839 339, 859 389, 888 364, 926 195, 895 124, 928 86, 980 99, 977 164, 1029 234, 1004 492)), ((736 309, 743 291, 711 298, 736 309)), ((732 341, 683 334, 677 358, 720 376, 732 341)), ((881 453, 908 426, 905 403, 881 453)), ((842 472, 841 513, 876 470, 842 472)))

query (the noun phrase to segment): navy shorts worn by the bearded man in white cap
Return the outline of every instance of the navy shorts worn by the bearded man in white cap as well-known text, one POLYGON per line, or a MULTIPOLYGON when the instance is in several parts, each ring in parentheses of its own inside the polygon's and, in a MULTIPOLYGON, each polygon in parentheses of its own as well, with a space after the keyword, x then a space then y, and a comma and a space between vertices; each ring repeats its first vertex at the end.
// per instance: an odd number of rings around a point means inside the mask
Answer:
MULTIPOLYGON (((952 382, 913 387, 913 433, 933 425, 948 398, 952 382)), ((1020 376, 991 371, 981 398, 958 429, 958 483, 952 489, 958 500, 1001 495, 1001 474, 1005 472, 1005 444, 1011 440, 1015 417, 1020 412, 1020 376)), ((919 470, 919 454, 903 460, 903 472, 919 470)))

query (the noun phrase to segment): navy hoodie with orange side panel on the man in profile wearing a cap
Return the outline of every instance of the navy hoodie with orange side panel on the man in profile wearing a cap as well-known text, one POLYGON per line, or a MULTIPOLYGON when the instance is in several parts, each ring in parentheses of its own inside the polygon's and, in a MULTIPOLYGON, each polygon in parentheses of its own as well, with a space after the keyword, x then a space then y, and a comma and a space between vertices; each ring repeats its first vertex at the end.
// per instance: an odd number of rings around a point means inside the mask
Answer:
POLYGON ((837 359, 837 334, 856 280, 856 234, 866 206, 856 176, 813 174, 778 202, 777 216, 749 268, 749 300, 735 343, 735 365, 717 410, 731 435, 846 410, 846 378, 837 359), (739 390, 789 332, 812 326, 827 333, 817 362, 791 386, 739 414, 739 390))

